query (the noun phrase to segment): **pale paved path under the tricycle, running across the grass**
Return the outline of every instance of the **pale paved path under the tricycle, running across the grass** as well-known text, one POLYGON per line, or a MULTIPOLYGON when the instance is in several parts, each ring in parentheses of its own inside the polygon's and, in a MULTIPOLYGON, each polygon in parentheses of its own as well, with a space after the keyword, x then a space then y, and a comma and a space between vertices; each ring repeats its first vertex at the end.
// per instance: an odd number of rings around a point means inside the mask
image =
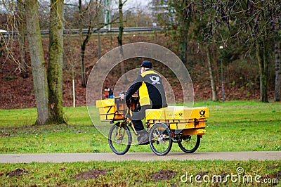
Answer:
POLYGON ((281 160, 281 151, 254 152, 195 152, 192 154, 170 152, 165 156, 154 153, 36 153, 3 154, 0 163, 20 162, 78 162, 78 161, 154 161, 154 160, 281 160))

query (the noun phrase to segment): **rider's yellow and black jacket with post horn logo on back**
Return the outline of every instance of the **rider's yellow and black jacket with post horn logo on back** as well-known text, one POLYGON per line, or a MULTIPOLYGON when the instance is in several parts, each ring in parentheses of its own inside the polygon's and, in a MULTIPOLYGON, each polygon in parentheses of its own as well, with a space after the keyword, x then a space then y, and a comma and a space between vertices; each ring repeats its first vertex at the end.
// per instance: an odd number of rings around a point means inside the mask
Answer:
POLYGON ((126 103, 137 90, 139 90, 141 106, 149 105, 149 108, 164 108, 167 106, 162 77, 156 72, 148 69, 138 75, 126 93, 126 103))

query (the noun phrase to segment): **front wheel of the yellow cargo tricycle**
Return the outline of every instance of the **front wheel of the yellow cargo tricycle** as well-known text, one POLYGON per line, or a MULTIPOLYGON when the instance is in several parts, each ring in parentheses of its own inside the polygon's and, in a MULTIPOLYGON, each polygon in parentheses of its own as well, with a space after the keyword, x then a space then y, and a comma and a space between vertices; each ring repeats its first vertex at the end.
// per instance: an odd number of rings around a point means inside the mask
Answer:
POLYGON ((108 134, 108 143, 111 150, 117 155, 124 155, 131 147, 132 136, 129 127, 113 125, 108 134))

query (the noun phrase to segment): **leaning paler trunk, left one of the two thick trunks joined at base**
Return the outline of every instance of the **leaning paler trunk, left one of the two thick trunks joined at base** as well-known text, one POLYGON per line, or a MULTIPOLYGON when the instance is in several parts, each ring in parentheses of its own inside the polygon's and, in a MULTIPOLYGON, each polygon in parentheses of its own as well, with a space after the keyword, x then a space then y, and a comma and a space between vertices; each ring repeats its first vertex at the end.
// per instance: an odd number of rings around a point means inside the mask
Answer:
POLYGON ((48 120, 48 82, 45 60, 41 42, 41 32, 38 17, 38 1, 27 0, 27 39, 30 48, 34 94, 37 106, 36 124, 46 124, 48 120))

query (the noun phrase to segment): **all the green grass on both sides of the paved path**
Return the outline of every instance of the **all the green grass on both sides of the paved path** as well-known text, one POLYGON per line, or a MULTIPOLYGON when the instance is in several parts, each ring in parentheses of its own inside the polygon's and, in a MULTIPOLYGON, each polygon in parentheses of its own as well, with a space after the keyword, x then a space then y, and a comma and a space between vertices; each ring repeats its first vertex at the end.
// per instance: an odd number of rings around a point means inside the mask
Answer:
MULTIPOLYGON (((281 150, 281 104, 257 101, 224 103, 198 102, 207 106, 210 117, 207 134, 197 151, 281 150)), ((91 110, 92 124, 85 107, 65 108, 68 125, 34 126, 36 109, 0 110, 0 153, 98 153, 112 152, 106 136, 98 127, 110 127, 100 122, 98 111, 91 110)), ((130 152, 148 151, 149 146, 131 146, 130 152)), ((180 151, 176 143, 171 151, 180 151)), ((278 179, 281 186, 279 161, 157 161, 157 162, 72 162, 0 164, 1 186, 190 186, 181 176, 206 172, 214 175, 235 175, 243 167, 243 175, 260 175, 263 179, 278 179), (9 176, 20 168, 28 171, 21 176, 9 176), (97 179, 75 180, 74 176, 89 169, 108 169, 97 179), (171 179, 154 181, 152 176, 162 169, 171 170, 171 179)), ((185 179, 185 178, 183 178, 185 179)), ((226 179, 226 178, 224 178, 226 179)), ((189 179, 188 179, 189 180, 189 179)), ((271 186, 268 183, 196 183, 193 186, 271 186)))

